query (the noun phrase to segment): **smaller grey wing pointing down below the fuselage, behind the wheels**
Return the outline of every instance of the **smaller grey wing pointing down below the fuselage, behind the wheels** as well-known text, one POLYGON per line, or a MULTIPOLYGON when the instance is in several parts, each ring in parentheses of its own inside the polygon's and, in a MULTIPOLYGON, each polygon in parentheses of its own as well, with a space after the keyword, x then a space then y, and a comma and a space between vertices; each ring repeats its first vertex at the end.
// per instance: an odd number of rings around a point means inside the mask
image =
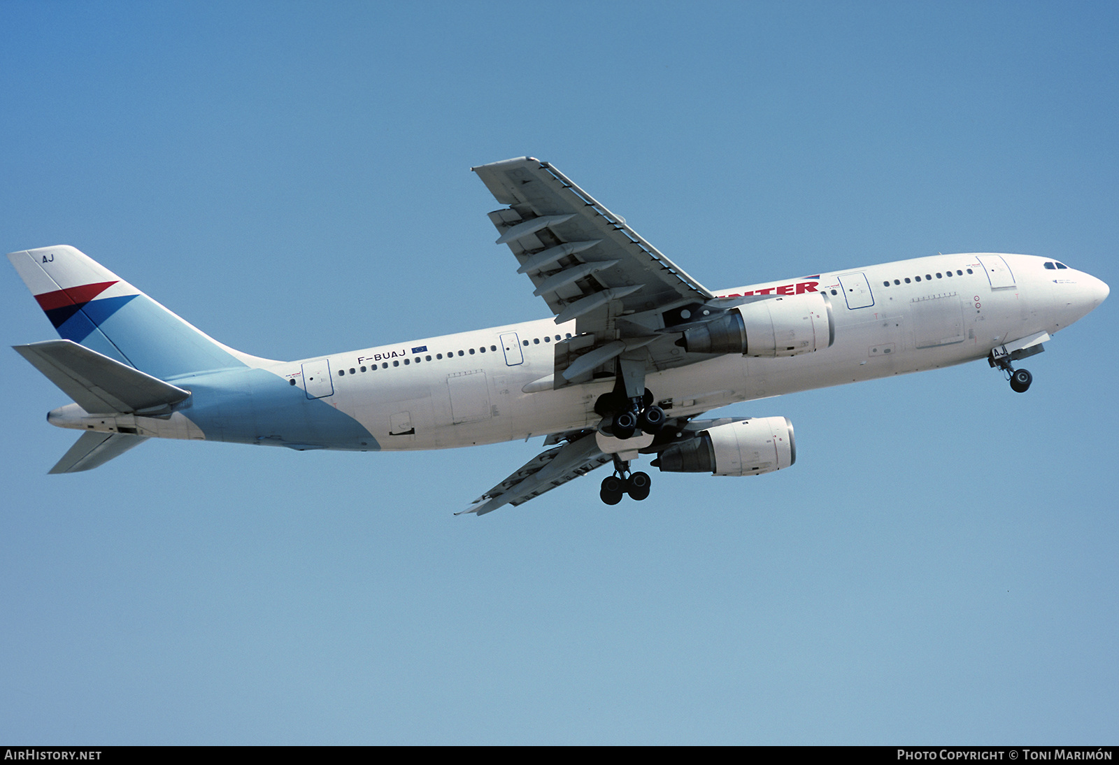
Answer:
POLYGON ((537 454, 513 475, 476 499, 469 508, 454 514, 473 512, 485 516, 504 504, 523 504, 613 461, 613 457, 599 450, 594 431, 579 431, 567 435, 571 437, 567 443, 537 454))

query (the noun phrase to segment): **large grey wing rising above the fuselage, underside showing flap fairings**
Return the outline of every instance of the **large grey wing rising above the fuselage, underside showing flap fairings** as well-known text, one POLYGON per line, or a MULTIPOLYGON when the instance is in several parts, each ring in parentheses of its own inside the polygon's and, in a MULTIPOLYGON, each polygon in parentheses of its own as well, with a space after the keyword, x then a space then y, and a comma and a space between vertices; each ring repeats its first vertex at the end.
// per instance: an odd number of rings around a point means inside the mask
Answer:
POLYGON ((497 243, 513 251, 556 323, 575 322, 575 337, 555 344, 554 387, 590 380, 599 368, 611 371, 623 353, 657 370, 699 360, 685 358, 664 330, 683 321, 687 306, 715 295, 623 218, 530 157, 472 170, 508 205, 489 214, 497 243))

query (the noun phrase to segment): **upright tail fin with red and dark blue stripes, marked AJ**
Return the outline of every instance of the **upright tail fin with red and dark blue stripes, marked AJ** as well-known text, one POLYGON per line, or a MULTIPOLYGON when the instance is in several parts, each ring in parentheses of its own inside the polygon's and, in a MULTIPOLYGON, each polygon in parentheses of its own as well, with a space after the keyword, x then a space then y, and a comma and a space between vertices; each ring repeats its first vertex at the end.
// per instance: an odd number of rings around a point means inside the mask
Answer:
POLYGON ((256 366, 255 357, 217 342, 74 247, 8 259, 65 340, 160 379, 256 366))

